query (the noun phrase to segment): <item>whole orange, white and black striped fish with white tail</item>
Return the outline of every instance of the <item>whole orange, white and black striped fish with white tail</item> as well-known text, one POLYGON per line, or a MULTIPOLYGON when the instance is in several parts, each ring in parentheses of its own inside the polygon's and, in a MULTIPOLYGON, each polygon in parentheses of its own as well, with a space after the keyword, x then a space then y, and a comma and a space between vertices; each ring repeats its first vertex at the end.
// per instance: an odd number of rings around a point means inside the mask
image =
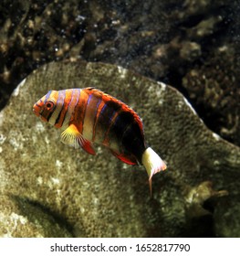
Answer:
POLYGON ((95 155, 92 143, 103 144, 122 162, 144 165, 151 177, 165 163, 144 138, 139 115, 128 105, 94 88, 48 91, 33 107, 42 121, 63 128, 61 141, 95 155))

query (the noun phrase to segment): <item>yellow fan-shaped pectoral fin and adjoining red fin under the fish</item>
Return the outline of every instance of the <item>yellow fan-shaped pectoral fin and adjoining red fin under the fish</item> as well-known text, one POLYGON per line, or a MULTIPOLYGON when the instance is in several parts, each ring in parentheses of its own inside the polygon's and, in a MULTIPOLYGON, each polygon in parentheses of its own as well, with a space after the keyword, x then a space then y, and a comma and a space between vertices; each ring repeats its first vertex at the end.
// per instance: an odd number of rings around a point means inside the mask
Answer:
POLYGON ((78 132, 78 129, 74 124, 70 124, 68 128, 61 133, 61 141, 64 144, 72 145, 75 148, 81 146, 90 155, 96 155, 91 143, 78 132))

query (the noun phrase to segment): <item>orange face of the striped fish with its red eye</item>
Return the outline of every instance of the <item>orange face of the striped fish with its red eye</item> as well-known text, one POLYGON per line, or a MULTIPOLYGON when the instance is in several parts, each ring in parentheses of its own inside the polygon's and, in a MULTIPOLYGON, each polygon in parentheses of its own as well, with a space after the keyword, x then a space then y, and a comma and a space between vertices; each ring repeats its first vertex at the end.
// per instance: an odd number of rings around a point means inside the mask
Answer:
POLYGON ((55 94, 53 92, 54 91, 48 91, 47 94, 33 106, 33 112, 44 122, 48 122, 52 112, 54 112, 57 106, 57 99, 53 97, 55 94), (49 95, 51 95, 51 97, 49 97, 49 95))

